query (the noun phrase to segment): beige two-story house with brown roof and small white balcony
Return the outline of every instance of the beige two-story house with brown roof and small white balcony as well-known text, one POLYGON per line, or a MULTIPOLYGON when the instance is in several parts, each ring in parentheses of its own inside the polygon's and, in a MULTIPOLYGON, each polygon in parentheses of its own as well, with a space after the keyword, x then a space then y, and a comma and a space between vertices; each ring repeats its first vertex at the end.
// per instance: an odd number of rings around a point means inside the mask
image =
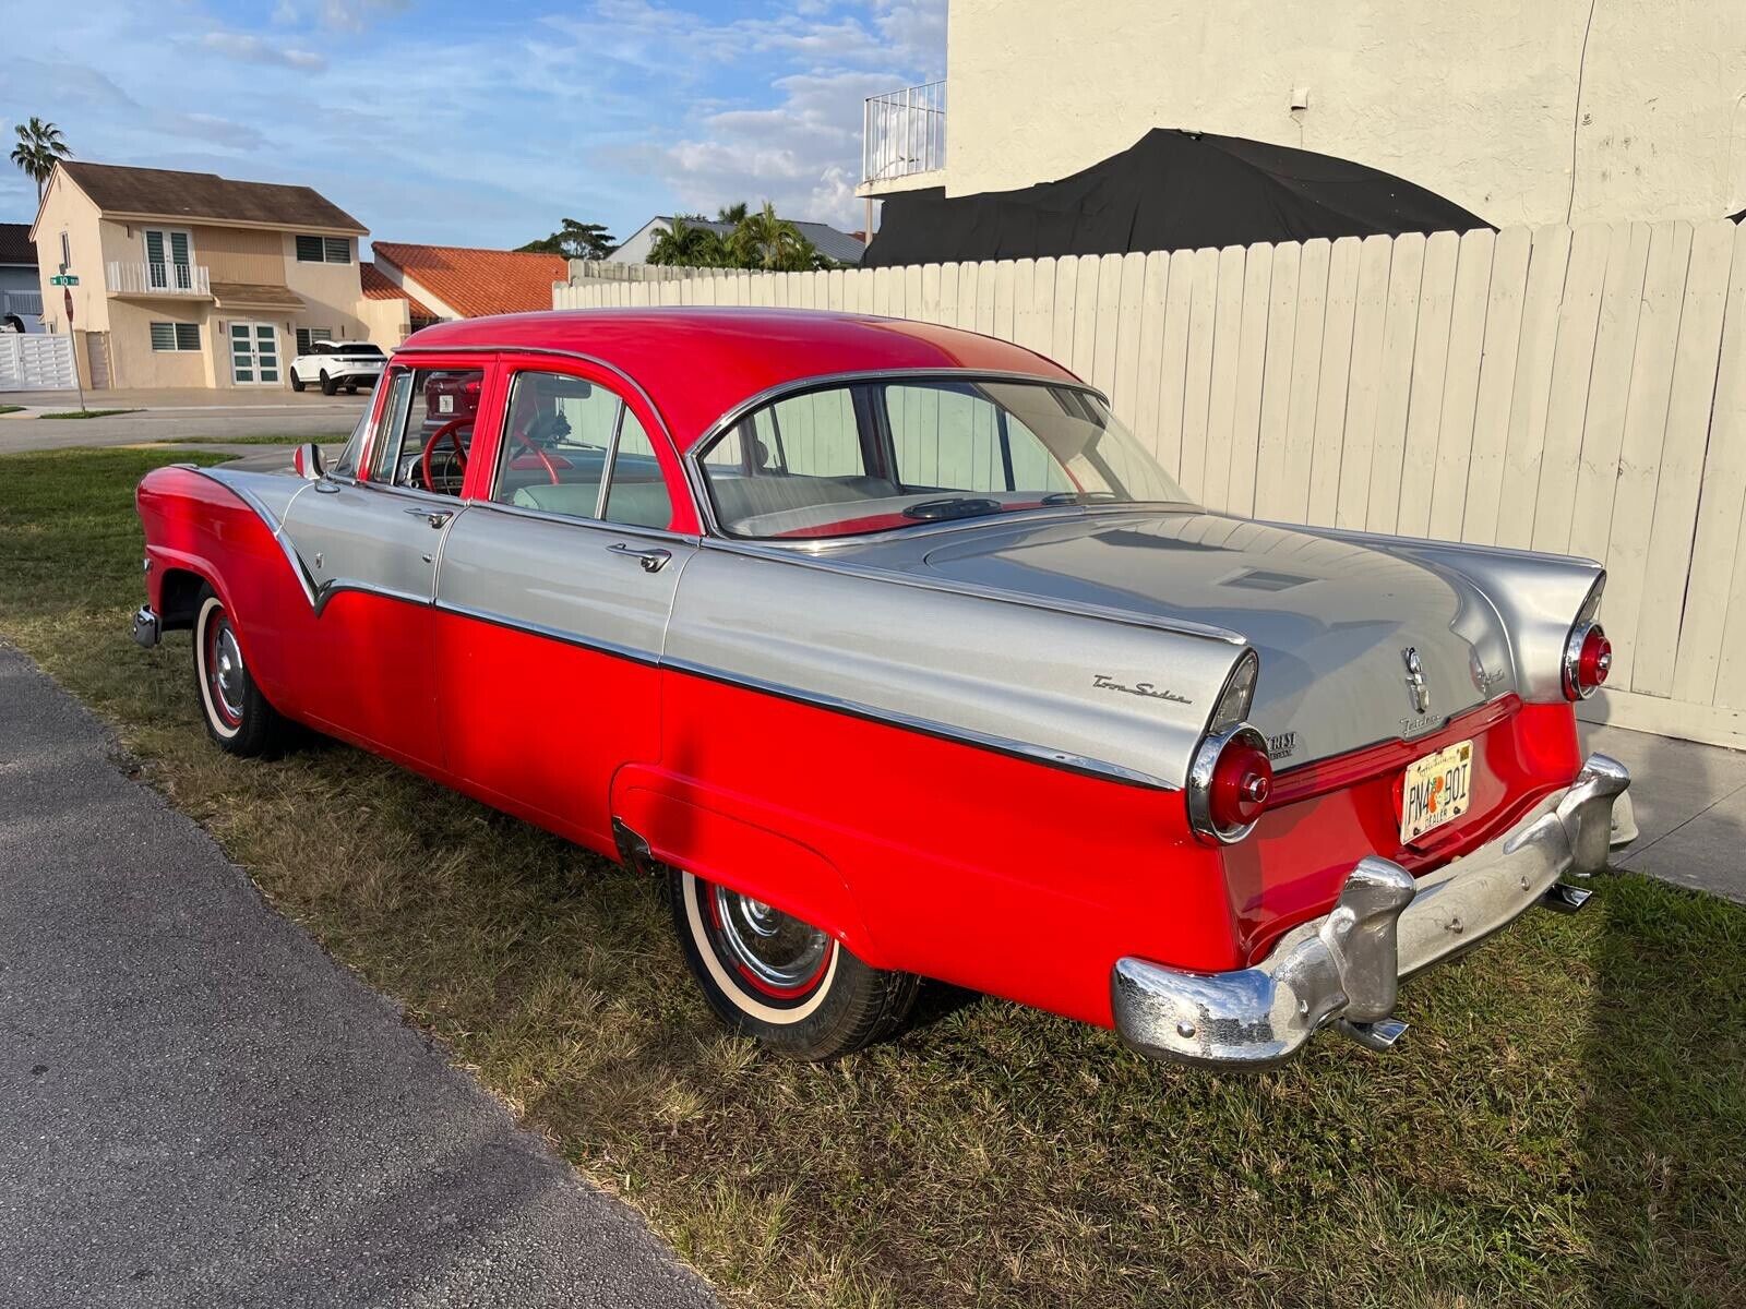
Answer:
POLYGON ((288 386, 311 340, 407 333, 405 300, 363 295, 361 236, 309 187, 59 162, 31 227, 44 326, 91 387, 288 386))

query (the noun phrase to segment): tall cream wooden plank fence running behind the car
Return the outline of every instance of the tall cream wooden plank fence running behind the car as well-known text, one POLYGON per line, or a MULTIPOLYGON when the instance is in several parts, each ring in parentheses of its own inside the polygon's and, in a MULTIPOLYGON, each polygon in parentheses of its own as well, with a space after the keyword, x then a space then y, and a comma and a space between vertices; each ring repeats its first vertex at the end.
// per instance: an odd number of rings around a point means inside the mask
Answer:
POLYGON ((1619 223, 559 286, 1049 354, 1201 501, 1610 572, 1585 714, 1746 747, 1746 225, 1619 223))

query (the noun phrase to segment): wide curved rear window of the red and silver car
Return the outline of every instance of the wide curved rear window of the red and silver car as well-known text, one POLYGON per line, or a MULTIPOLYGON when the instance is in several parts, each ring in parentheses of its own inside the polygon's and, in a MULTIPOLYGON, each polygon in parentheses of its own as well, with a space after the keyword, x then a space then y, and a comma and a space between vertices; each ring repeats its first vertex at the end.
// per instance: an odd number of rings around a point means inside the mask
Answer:
POLYGON ((758 539, 1187 499, 1102 400, 1048 382, 828 386, 747 414, 700 463, 723 531, 758 539))

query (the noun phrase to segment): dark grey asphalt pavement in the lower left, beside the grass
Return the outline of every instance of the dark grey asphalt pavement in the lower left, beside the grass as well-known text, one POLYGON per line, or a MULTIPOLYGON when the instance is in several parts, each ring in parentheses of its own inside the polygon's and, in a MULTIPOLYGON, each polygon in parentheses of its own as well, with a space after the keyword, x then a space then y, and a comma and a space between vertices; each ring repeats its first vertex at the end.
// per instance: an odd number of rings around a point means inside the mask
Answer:
POLYGON ((0 648, 0 1304, 707 1306, 0 648))

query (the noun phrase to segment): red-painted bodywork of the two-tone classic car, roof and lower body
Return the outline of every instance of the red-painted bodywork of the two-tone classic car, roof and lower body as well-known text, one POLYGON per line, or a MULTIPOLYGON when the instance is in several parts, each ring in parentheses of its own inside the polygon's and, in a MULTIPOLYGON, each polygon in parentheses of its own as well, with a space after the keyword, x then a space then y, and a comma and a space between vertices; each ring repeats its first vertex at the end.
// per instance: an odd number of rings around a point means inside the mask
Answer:
MULTIPOLYGON (((920 325, 890 323, 868 349, 863 321, 845 358, 845 330, 821 323, 801 333, 793 316, 707 311, 496 321, 501 365, 452 356, 487 367, 466 492, 482 494, 492 464, 506 368, 562 368, 625 389, 609 368, 540 358, 540 347, 606 354, 658 396, 627 394, 667 471, 677 531, 697 529, 677 452, 766 386, 849 367, 1065 377, 1014 346, 920 325), (704 339, 707 349, 688 349, 704 339)), ((466 346, 478 330, 445 325, 412 344, 466 346)), ((601 852, 615 848, 613 819, 623 819, 660 859, 814 922, 876 967, 1105 1026, 1119 958, 1245 967, 1325 913, 1364 855, 1437 867, 1496 838, 1580 763, 1570 705, 1509 696, 1437 735, 1282 773, 1255 831, 1212 846, 1189 831, 1180 792, 428 604, 340 592, 318 614, 272 531, 222 483, 164 468, 141 482, 138 503, 150 602, 162 611, 171 571, 210 581, 281 712, 601 852), (1402 850, 1402 770, 1468 737, 1470 812, 1402 850)))

